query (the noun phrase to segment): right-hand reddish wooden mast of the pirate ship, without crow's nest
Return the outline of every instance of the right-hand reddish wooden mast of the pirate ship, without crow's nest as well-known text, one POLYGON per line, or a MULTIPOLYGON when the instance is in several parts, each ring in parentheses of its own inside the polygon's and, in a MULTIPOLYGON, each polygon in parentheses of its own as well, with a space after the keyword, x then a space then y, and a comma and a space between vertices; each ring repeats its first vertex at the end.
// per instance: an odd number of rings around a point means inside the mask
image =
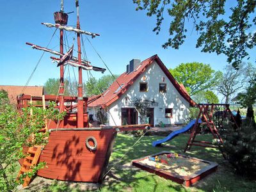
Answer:
MULTIPOLYGON (((80 29, 79 22, 79 3, 76 0, 76 10, 77 10, 77 24, 76 28, 80 29)), ((78 63, 81 64, 81 40, 80 34, 77 33, 77 50, 78 50, 78 63)), ((78 67, 78 97, 77 97, 77 127, 84 127, 84 110, 83 110, 83 80, 82 80, 82 68, 78 67)))

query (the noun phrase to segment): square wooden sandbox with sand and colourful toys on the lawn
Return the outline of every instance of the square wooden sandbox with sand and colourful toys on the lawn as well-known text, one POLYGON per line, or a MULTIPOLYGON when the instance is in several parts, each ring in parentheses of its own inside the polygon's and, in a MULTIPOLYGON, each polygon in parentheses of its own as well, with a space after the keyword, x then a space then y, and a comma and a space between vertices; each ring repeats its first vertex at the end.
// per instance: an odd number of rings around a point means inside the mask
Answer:
POLYGON ((142 157, 132 161, 132 165, 146 170, 150 173, 155 173, 165 179, 173 180, 179 184, 184 184, 189 187, 198 180, 204 178, 218 168, 218 164, 195 157, 183 156, 170 152, 159 152, 147 157, 142 157), (170 158, 171 156, 171 158, 170 158), (154 161, 152 159, 159 159, 154 161))

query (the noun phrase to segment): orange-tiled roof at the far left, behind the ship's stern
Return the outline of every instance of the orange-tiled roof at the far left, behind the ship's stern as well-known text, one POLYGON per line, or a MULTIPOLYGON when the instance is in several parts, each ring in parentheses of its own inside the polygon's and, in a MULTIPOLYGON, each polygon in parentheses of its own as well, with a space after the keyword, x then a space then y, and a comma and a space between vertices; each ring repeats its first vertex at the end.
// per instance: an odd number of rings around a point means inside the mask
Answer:
POLYGON ((15 85, 0 85, 0 90, 5 90, 8 93, 11 104, 17 104, 17 95, 24 93, 25 95, 42 97, 43 95, 43 86, 26 86, 22 92, 24 86, 15 86, 15 85))

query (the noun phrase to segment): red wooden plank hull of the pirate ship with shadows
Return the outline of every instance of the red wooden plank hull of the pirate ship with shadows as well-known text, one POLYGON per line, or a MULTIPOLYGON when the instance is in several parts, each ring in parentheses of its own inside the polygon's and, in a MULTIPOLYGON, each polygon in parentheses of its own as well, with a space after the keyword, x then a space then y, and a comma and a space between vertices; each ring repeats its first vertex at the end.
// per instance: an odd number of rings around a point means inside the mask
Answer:
POLYGON ((45 162, 46 166, 38 170, 38 175, 49 179, 101 182, 115 137, 115 129, 51 131, 49 142, 40 155, 40 162, 45 162), (92 136, 97 141, 94 151, 86 147, 86 139, 92 136))

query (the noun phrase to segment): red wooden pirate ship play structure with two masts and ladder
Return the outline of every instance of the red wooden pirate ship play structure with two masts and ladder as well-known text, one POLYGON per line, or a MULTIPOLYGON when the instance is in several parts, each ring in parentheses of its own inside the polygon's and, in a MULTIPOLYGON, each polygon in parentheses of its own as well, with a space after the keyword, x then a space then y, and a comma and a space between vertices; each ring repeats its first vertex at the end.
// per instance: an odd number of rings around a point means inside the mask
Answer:
MULTIPOLYGON (((31 45, 33 49, 51 52, 60 58, 51 57, 60 66, 60 88, 58 95, 43 95, 43 97, 31 97, 31 95, 20 95, 17 97, 17 108, 26 108, 29 103, 42 101, 38 107, 47 108, 49 101, 58 103, 58 110, 66 111, 63 120, 58 122, 50 121, 45 125, 44 131, 49 131, 49 141, 42 149, 31 147, 26 150, 28 156, 20 161, 21 168, 19 175, 31 170, 31 166, 38 162, 45 162, 47 165, 38 171, 37 175, 58 180, 71 180, 81 182, 100 182, 106 173, 109 157, 115 141, 117 131, 129 131, 145 129, 147 124, 129 125, 122 127, 89 127, 87 106, 97 99, 95 97, 83 97, 82 70, 95 70, 104 72, 105 68, 95 67, 89 61, 81 59, 81 36, 90 35, 93 38, 99 36, 97 33, 90 33, 80 29, 79 24, 79 3, 76 0, 77 24, 76 28, 67 26, 68 15, 63 11, 63 1, 61 1, 61 11, 54 13, 55 24, 42 23, 49 28, 60 30, 60 52, 31 45), (72 56, 74 47, 67 53, 63 52, 63 33, 71 31, 77 37, 77 58, 72 56), (77 97, 64 96, 64 70, 65 65, 78 67, 78 90, 77 97)), ((121 87, 122 88, 122 87, 121 87)), ((29 184, 29 179, 25 180, 24 186, 29 184)))

